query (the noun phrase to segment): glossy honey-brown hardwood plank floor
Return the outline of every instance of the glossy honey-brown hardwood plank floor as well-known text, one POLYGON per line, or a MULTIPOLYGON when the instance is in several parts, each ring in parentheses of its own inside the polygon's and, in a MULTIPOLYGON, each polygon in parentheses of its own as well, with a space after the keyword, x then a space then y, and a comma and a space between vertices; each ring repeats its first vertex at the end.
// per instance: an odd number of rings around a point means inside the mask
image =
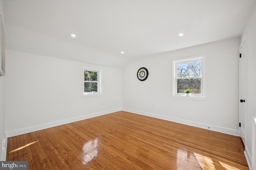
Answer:
POLYGON ((124 111, 8 138, 30 170, 248 170, 239 137, 124 111))

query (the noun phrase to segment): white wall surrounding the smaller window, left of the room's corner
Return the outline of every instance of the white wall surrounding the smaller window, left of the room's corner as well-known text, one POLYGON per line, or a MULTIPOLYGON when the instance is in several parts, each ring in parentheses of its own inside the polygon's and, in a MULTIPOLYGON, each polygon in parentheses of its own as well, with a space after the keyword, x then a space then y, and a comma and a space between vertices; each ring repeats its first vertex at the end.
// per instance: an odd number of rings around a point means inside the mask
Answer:
POLYGON ((122 70, 6 50, 7 137, 122 109, 122 70), (103 95, 82 97, 82 67, 103 71, 103 95))

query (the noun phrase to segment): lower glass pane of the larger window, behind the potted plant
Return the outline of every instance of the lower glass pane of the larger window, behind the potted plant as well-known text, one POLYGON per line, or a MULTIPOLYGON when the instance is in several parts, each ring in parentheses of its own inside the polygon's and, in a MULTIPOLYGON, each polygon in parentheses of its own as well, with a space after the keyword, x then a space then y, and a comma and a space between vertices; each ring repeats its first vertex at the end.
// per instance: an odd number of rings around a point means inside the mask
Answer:
POLYGON ((192 89, 191 94, 201 94, 201 79, 178 79, 177 93, 184 93, 186 89, 192 89))

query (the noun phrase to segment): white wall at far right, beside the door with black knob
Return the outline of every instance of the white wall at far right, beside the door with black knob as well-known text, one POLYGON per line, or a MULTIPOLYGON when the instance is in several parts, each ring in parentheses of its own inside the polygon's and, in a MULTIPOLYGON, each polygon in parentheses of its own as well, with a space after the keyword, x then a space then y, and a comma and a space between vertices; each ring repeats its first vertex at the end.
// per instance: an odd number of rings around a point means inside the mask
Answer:
MULTIPOLYGON (((252 116, 256 114, 256 5, 246 27, 242 33, 241 41, 246 41, 247 56, 247 120, 246 120, 246 138, 245 149, 252 161, 252 116)), ((255 148, 254 148, 255 149, 255 148)), ((255 152, 256 153, 256 152, 255 152)), ((256 170, 256 167, 254 167, 256 170)))

